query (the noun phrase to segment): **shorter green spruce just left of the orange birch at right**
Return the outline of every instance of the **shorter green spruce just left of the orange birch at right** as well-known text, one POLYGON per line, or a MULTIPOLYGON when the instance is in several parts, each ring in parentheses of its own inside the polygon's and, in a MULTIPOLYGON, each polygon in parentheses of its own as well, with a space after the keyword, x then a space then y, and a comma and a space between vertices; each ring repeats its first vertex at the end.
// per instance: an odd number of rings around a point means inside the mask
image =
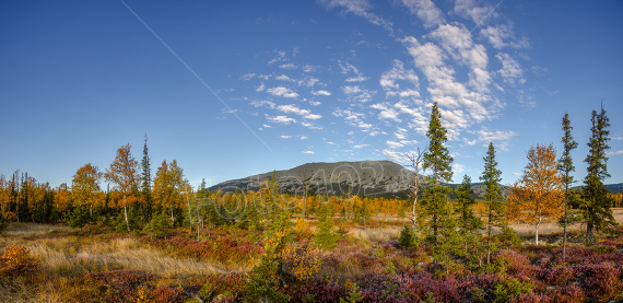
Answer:
POLYGON ((484 205, 486 210, 486 264, 491 263, 492 237, 493 226, 504 225, 502 218, 504 217, 505 206, 504 197, 502 196, 502 172, 497 170, 497 161, 495 161, 495 148, 493 142, 489 142, 489 149, 484 160, 484 171, 480 180, 483 182, 485 187, 484 205))

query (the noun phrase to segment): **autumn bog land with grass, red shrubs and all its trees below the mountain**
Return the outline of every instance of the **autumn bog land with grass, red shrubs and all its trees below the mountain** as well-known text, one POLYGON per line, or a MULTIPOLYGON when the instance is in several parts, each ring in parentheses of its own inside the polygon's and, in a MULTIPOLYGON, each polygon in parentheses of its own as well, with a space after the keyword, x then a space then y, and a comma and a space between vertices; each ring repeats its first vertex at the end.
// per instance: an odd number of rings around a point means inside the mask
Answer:
POLYGON ((127 144, 109 167, 79 167, 71 185, 0 175, 0 301, 623 300, 623 230, 612 213, 622 195, 603 186, 606 110, 591 121, 580 189, 568 189, 577 143, 565 115, 561 158, 552 143, 530 148, 507 196, 489 144, 482 199, 467 175, 450 199, 437 104, 428 148, 405 155, 425 176, 412 180, 410 200, 294 196, 274 174, 257 191, 192 188, 175 160, 152 174, 146 138, 140 163, 127 144), (561 229, 543 234, 546 222, 561 229))

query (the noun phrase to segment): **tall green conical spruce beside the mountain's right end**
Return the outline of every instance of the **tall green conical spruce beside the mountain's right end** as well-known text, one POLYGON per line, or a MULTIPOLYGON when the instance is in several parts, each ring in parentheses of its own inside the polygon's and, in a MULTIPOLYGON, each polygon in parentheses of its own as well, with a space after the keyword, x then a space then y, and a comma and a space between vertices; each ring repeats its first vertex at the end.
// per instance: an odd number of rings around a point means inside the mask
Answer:
POLYGON ((431 110, 431 121, 428 123, 428 149, 424 152, 422 168, 431 170, 432 175, 426 177, 428 188, 424 191, 423 207, 425 214, 431 218, 433 228, 433 241, 437 242, 439 228, 443 228, 443 220, 448 218, 448 194, 450 188, 445 184, 452 180, 451 163, 448 149, 444 147, 448 141, 447 130, 442 126, 442 114, 437 102, 433 103, 431 110))

